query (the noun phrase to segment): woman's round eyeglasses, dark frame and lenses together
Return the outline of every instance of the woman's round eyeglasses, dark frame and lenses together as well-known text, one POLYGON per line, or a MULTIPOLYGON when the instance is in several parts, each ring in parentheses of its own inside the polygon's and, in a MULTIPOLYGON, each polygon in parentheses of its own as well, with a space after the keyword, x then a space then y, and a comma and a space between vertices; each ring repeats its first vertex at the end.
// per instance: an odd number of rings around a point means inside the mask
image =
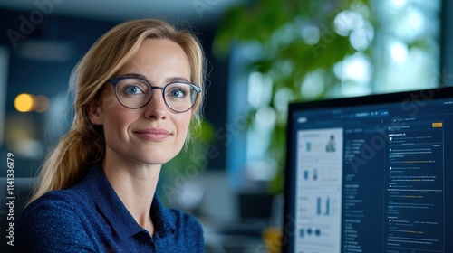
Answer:
POLYGON ((125 108, 142 108, 149 103, 153 89, 162 89, 167 107, 175 112, 188 111, 195 105, 201 88, 195 84, 174 81, 164 87, 152 86, 148 80, 120 77, 108 80, 115 87, 115 95, 125 108))

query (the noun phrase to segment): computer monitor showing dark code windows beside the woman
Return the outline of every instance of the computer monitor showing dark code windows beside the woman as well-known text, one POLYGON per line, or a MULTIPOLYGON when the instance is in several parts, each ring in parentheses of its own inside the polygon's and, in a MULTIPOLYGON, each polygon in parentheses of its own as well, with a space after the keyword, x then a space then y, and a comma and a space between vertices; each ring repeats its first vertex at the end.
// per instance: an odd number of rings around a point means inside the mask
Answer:
POLYGON ((289 105, 283 251, 453 252, 453 87, 289 105))

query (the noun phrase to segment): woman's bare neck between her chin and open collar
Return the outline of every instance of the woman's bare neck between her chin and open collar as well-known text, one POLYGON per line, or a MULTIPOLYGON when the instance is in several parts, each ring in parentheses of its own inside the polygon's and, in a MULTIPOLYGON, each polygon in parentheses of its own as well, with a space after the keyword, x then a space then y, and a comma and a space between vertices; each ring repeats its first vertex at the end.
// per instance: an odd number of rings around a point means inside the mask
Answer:
POLYGON ((113 190, 142 228, 154 233, 150 216, 151 203, 156 192, 161 165, 124 161, 106 154, 102 169, 113 190))

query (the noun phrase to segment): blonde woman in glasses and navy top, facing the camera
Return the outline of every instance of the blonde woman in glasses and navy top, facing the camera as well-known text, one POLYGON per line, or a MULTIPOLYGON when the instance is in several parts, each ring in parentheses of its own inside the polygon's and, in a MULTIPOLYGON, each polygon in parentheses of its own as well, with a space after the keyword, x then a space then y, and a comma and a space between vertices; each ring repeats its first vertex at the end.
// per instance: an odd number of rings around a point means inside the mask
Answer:
POLYGON ((162 207, 162 164, 200 120, 198 40, 159 20, 111 29, 72 73, 75 118, 43 164, 19 252, 200 252, 193 217, 162 207))

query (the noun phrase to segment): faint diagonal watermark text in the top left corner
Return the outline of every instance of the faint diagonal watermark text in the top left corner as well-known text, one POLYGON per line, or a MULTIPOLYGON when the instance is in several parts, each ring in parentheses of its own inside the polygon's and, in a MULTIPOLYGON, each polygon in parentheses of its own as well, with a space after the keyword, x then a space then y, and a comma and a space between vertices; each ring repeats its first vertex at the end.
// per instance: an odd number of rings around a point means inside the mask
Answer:
POLYGON ((18 31, 13 29, 8 29, 8 31, 6 31, 9 41, 13 44, 14 49, 17 47, 17 42, 24 41, 27 35, 34 32, 36 25, 43 23, 44 15, 53 13, 54 5, 62 3, 63 0, 35 0, 34 5, 36 5, 38 9, 32 11, 28 18, 24 15, 19 16, 21 23, 19 24, 18 31))

